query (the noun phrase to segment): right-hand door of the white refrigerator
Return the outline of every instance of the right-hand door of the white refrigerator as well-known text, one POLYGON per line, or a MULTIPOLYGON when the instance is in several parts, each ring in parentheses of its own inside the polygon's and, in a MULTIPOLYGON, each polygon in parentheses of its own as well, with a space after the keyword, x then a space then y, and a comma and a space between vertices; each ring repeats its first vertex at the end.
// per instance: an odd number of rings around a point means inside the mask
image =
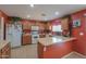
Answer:
POLYGON ((22 26, 20 25, 16 25, 16 27, 13 26, 13 43, 12 43, 13 47, 21 47, 21 43, 22 43, 21 29, 22 29, 22 26))

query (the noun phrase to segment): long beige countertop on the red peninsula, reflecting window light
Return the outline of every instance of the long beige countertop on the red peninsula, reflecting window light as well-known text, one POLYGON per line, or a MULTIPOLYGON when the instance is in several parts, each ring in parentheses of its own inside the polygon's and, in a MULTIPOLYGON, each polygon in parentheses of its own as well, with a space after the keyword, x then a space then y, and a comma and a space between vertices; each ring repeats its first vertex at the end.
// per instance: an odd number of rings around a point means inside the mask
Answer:
POLYGON ((45 37, 45 38, 39 38, 38 41, 42 46, 50 46, 53 43, 63 43, 66 41, 75 40, 76 38, 73 37, 62 37, 62 36, 57 36, 57 37, 45 37))

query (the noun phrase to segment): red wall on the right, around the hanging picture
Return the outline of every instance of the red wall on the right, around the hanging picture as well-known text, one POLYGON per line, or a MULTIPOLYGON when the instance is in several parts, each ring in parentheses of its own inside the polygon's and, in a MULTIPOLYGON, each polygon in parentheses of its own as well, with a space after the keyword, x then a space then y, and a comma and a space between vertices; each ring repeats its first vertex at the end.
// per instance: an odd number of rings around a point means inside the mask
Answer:
POLYGON ((81 20, 81 27, 73 28, 72 36, 77 38, 77 40, 73 42, 74 50, 86 55, 86 17, 84 16, 84 14, 86 14, 86 9, 72 14, 73 21, 77 18, 81 20), (84 35, 81 36, 79 33, 83 33, 84 35))

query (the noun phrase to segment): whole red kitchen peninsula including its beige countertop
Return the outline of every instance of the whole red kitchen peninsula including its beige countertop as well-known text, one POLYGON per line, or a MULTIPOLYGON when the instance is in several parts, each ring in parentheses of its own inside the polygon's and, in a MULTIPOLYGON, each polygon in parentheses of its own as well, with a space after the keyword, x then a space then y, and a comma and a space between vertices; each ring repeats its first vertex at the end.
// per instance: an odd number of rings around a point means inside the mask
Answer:
POLYGON ((39 59, 60 59, 73 51, 72 41, 75 38, 70 37, 45 37, 38 40, 39 59))

